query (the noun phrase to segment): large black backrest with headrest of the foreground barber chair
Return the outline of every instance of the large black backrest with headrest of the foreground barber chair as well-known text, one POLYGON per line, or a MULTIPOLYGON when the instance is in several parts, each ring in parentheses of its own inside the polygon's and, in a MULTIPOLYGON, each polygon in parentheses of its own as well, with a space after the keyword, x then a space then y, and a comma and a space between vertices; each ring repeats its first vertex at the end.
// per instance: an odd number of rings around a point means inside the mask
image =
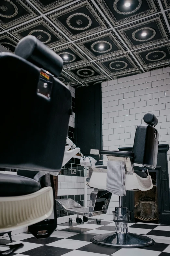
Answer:
POLYGON ((59 172, 71 114, 71 93, 56 78, 63 60, 33 36, 18 44, 23 52, 27 60, 0 54, 0 167, 59 172))

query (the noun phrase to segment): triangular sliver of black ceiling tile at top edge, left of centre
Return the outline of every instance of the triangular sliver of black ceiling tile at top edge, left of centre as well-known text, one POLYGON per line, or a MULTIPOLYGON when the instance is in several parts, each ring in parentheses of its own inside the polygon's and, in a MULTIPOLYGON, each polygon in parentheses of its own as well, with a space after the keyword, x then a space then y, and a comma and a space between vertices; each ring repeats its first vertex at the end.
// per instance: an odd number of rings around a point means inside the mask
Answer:
POLYGON ((57 9, 73 0, 30 0, 42 13, 57 9))

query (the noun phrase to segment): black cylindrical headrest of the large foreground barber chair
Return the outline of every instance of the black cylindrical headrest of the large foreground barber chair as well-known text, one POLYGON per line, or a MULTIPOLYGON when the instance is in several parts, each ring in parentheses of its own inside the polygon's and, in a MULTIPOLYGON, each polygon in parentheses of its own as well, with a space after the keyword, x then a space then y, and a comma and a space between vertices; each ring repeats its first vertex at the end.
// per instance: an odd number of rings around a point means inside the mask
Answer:
POLYGON ((43 68, 55 77, 60 76, 63 60, 35 36, 24 37, 15 48, 15 54, 43 68))

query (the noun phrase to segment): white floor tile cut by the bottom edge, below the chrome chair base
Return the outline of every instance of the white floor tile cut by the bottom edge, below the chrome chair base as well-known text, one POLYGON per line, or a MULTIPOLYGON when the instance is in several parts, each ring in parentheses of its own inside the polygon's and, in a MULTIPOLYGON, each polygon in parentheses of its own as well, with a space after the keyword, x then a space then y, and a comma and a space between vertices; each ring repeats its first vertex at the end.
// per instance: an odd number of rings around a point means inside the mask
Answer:
POLYGON ((120 249, 119 251, 114 252, 113 256, 158 256, 161 254, 161 251, 151 251, 151 250, 144 250, 140 248, 127 248, 127 249, 120 249))

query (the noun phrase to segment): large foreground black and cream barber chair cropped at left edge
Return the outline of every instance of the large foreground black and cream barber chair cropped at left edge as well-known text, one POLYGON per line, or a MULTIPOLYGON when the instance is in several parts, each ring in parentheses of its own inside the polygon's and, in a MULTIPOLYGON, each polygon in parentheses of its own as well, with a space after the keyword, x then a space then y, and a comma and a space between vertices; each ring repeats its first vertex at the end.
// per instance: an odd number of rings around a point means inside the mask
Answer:
POLYGON ((57 79, 63 60, 27 36, 15 54, 0 53, 0 66, 0 167, 19 170, 17 176, 0 174, 0 233, 31 225, 37 239, 48 237, 57 226, 52 175, 68 150, 72 112, 71 93, 57 79))

